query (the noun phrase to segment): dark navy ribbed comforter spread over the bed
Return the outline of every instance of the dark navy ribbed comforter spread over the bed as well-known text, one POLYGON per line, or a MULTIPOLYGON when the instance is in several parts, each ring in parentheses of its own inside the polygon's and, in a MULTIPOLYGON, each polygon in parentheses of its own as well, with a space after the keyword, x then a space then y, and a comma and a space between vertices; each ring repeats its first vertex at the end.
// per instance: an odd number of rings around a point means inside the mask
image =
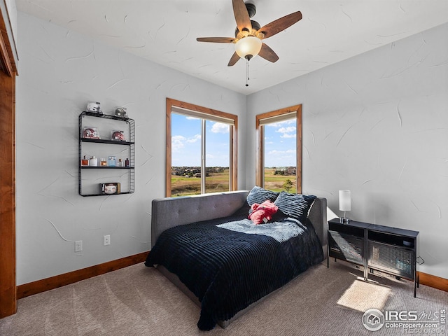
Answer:
POLYGON ((300 235, 283 242, 216 226, 246 217, 240 213, 166 230, 146 258, 146 266, 165 266, 199 298, 200 330, 213 329, 323 260, 309 221, 298 224, 300 235))

